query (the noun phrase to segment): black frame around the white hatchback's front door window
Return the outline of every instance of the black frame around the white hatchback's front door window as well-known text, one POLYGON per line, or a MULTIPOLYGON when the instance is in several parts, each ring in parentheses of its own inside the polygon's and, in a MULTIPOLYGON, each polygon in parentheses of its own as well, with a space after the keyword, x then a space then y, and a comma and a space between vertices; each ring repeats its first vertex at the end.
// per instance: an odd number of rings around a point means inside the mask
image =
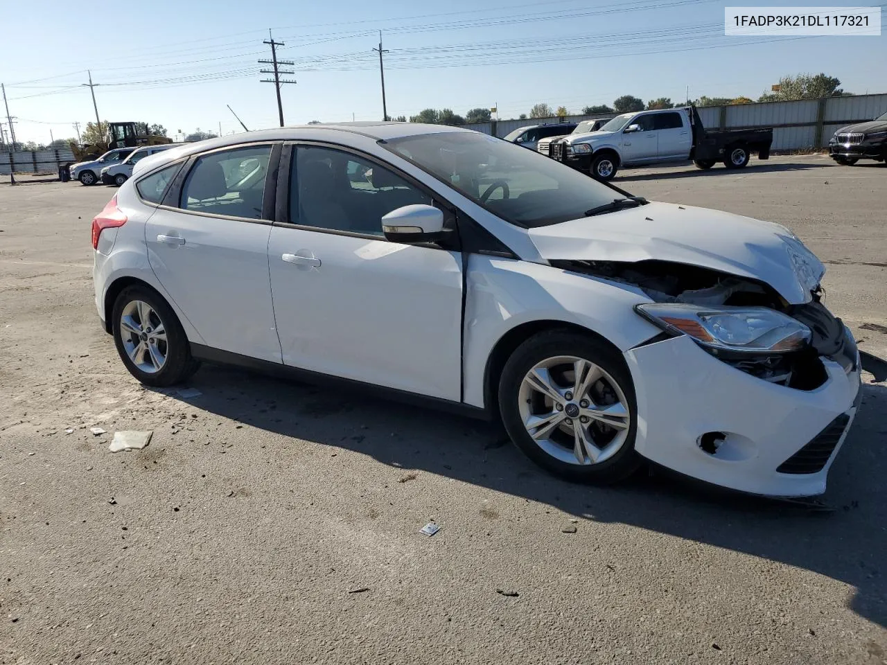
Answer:
MULTIPOLYGON (((444 208, 444 212, 451 215, 453 220, 453 228, 452 228, 452 238, 448 239, 449 242, 446 243, 445 246, 437 245, 436 243, 414 243, 414 246, 428 246, 433 249, 442 249, 448 252, 459 252, 461 251, 461 242, 459 241, 459 215, 464 215, 459 210, 459 207, 454 206, 449 200, 444 199, 437 192, 432 190, 428 185, 421 183, 415 177, 406 173, 401 168, 398 168, 396 165, 392 164, 389 161, 381 160, 381 158, 376 157, 373 154, 365 153, 365 151, 360 150, 358 148, 352 147, 350 145, 341 145, 332 143, 331 141, 316 141, 310 139, 299 139, 294 141, 287 141, 284 144, 283 155, 280 158, 280 168, 278 171, 278 195, 277 200, 275 201, 275 219, 274 226, 280 226, 286 229, 299 229, 301 231, 316 231, 318 233, 330 233, 337 236, 348 236, 349 238, 365 238, 368 240, 381 240, 383 242, 394 242, 393 240, 389 240, 385 238, 385 236, 374 235, 373 233, 356 233, 354 231, 341 231, 339 229, 325 229, 318 226, 309 226, 308 224, 297 224, 289 221, 289 195, 290 195, 290 173, 292 172, 293 166, 293 154, 296 148, 299 146, 308 146, 313 148, 328 148, 330 150, 337 150, 340 153, 348 153, 353 154, 354 156, 369 161, 373 164, 378 164, 381 168, 387 168, 389 171, 393 172, 396 176, 403 178, 408 184, 415 187, 417 190, 428 196, 429 199, 437 203, 440 207, 444 208), (284 166, 286 165, 286 168, 284 166)), ((467 215, 465 215, 467 216, 467 215)))

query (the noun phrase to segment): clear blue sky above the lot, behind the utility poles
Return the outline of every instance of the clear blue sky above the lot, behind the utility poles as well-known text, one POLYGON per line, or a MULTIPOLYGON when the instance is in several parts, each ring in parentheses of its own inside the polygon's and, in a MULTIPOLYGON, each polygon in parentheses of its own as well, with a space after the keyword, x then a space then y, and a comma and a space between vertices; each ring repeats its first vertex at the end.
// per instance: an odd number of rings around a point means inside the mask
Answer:
MULTIPOLYGON (((277 125, 274 87, 260 82, 268 28, 287 45, 296 85, 283 87, 287 124, 381 119, 381 28, 390 115, 494 106, 517 117, 546 102, 611 104, 631 94, 757 98, 783 74, 825 72, 844 90, 887 92, 887 35, 727 37, 721 0, 70 0, 4 3, 0 82, 20 141, 74 136, 94 120, 157 122, 173 136, 196 128, 277 125), (479 9, 479 7, 486 9, 479 9), (144 28, 143 28, 144 26, 144 28)), ((747 4, 779 6, 786 0, 747 4)), ((820 3, 823 4, 823 3, 820 3)), ((830 5, 838 2, 825 3, 830 5)), ((871 3, 871 4, 880 4, 871 3)), ((887 28, 887 25, 884 26, 887 28)), ((2 119, 5 121, 5 118, 2 119)))

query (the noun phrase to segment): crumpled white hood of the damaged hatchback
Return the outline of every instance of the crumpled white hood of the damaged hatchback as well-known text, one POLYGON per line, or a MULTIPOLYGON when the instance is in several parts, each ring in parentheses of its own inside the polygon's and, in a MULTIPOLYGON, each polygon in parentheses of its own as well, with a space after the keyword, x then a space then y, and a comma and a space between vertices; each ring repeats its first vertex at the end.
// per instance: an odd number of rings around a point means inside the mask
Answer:
POLYGON ((546 260, 685 263, 764 282, 811 300, 825 267, 791 231, 719 210, 650 203, 530 229, 546 260))

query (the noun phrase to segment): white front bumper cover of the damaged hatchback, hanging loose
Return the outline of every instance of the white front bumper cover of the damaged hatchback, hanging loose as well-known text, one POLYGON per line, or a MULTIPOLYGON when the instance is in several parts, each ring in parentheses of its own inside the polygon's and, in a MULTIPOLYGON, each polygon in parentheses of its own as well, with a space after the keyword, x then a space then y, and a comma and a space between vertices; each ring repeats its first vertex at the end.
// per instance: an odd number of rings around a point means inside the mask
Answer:
POLYGON ((799 390, 735 369, 686 335, 632 348, 625 359, 637 396, 635 449, 730 489, 772 497, 822 494, 861 395, 855 347, 853 353, 855 362, 846 367, 820 357, 827 379, 799 390), (710 432, 725 435, 713 453, 701 447, 710 432))

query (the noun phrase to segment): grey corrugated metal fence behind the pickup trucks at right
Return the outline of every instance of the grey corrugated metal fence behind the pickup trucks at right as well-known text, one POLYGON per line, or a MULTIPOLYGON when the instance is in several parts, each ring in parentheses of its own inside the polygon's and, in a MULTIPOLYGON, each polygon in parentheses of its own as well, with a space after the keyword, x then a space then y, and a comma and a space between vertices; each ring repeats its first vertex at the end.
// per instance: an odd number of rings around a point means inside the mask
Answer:
MULTIPOLYGON (((828 145, 837 129, 854 122, 865 122, 887 113, 887 94, 799 99, 792 102, 764 102, 732 106, 705 106, 698 109, 708 129, 773 128, 773 150, 812 150, 828 145)), ((509 132, 543 122, 579 122, 612 118, 614 113, 568 115, 563 119, 534 118, 463 125, 467 129, 499 138, 509 132)))

